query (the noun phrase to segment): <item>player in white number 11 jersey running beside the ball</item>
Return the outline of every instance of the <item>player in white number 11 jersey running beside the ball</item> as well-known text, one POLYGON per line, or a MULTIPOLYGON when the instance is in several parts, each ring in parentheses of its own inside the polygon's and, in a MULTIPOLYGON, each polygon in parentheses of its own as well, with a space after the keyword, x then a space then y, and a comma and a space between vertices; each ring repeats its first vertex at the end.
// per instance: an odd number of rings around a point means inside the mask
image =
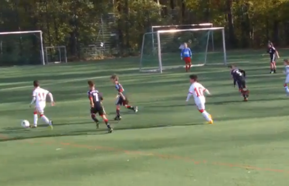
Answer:
POLYGON ((34 109, 34 123, 32 128, 37 127, 37 120, 38 120, 38 114, 41 119, 43 119, 50 127, 51 129, 53 128, 52 126, 52 121, 49 120, 45 115, 44 115, 44 109, 46 106, 46 96, 48 95, 50 97, 51 101, 51 106, 54 106, 54 101, 53 101, 53 96, 52 94, 43 88, 40 88, 39 82, 37 80, 33 81, 33 86, 34 90, 32 93, 32 101, 30 103, 30 107, 32 104, 35 102, 35 109, 34 109))

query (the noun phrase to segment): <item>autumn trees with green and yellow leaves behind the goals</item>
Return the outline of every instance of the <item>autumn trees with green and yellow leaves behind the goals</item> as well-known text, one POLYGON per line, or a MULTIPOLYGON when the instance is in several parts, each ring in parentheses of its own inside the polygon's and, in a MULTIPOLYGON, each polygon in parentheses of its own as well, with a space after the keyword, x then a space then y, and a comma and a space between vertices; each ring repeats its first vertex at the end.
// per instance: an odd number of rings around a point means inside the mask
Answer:
MULTIPOLYGON (((101 39, 111 53, 139 52, 152 25, 210 22, 225 27, 227 48, 260 48, 268 40, 287 46, 287 10, 288 0, 0 0, 0 32, 42 30, 46 46, 64 45, 77 60, 101 39)), ((0 35, 5 39, 12 36, 0 35)))

